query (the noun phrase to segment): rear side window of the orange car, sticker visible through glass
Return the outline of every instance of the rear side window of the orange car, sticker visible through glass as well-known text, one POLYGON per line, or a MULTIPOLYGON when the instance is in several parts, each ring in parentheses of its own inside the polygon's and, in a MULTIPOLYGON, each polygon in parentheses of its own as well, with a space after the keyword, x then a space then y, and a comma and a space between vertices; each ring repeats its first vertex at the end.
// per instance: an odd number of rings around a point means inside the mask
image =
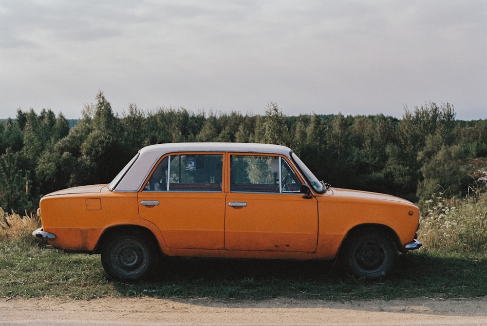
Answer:
POLYGON ((223 155, 180 154, 165 157, 145 191, 221 192, 223 155))

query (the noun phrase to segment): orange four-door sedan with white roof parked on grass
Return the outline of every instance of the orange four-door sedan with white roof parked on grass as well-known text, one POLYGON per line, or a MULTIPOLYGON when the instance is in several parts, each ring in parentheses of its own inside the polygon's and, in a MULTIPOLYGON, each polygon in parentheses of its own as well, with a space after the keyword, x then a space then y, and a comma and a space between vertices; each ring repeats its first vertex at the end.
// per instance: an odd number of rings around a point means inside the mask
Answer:
POLYGON ((369 279, 421 247, 419 209, 385 194, 332 188, 287 147, 173 143, 144 147, 106 185, 40 200, 51 248, 100 253, 116 280, 167 256, 334 259, 369 279))

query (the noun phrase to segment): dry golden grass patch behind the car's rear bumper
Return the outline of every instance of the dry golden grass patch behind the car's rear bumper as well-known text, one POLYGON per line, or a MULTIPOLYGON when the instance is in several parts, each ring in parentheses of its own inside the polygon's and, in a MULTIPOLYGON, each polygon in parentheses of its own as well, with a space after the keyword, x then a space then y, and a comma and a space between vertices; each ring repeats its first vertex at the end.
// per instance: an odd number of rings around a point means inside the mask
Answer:
POLYGON ((40 219, 32 214, 6 214, 0 208, 0 242, 13 241, 36 244, 32 231, 40 227, 40 219))

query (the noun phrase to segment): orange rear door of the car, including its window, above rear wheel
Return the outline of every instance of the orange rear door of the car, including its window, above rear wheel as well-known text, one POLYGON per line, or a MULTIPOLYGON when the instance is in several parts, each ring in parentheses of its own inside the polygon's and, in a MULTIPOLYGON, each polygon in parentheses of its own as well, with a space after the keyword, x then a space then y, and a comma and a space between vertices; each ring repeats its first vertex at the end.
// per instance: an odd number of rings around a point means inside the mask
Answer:
POLYGON ((223 157, 175 153, 152 171, 139 192, 139 214, 161 230, 167 247, 224 248, 223 157))

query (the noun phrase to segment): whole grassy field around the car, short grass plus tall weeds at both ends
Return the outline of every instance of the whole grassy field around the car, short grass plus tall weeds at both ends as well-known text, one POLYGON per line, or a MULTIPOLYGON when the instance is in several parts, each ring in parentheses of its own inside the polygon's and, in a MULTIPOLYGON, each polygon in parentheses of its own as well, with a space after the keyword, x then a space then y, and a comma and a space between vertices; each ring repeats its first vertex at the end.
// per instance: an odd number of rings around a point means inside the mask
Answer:
POLYGON ((30 235, 39 224, 36 217, 2 212, 0 297, 332 301, 486 297, 485 194, 455 208, 441 196, 435 198, 423 213, 419 237, 425 240, 424 248, 401 255, 392 275, 374 282, 344 275, 333 261, 165 258, 149 281, 119 283, 108 278, 98 255, 44 249, 30 235))

